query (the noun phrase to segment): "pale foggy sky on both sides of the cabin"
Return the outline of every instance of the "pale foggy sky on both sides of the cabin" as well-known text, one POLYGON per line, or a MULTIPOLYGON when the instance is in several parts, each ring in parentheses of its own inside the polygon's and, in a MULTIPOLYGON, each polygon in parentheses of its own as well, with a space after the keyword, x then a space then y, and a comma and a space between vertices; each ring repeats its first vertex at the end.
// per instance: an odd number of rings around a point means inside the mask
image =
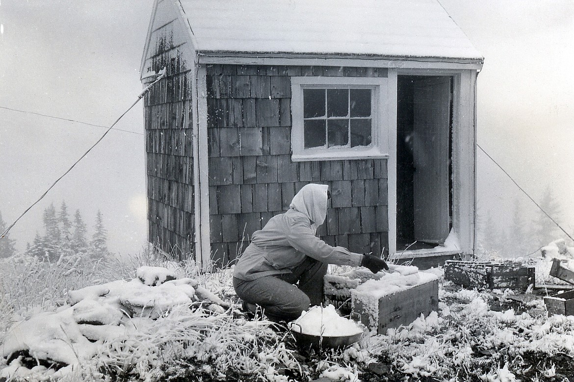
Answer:
MULTIPOLYGON (((546 186, 574 231, 574 2, 440 0, 485 57, 478 143, 540 200, 546 186)), ((0 107, 109 126, 141 92, 152 0, 2 0, 0 107)), ((109 247, 146 241, 142 104, 13 228, 20 250, 65 200, 88 227, 100 209, 109 247)), ((0 212, 10 224, 104 128, 0 108, 0 212)), ((520 192, 479 154, 479 206, 504 221, 520 192), (507 211, 508 210, 508 211, 507 211)), ((534 207, 525 201, 525 208, 534 207)))

